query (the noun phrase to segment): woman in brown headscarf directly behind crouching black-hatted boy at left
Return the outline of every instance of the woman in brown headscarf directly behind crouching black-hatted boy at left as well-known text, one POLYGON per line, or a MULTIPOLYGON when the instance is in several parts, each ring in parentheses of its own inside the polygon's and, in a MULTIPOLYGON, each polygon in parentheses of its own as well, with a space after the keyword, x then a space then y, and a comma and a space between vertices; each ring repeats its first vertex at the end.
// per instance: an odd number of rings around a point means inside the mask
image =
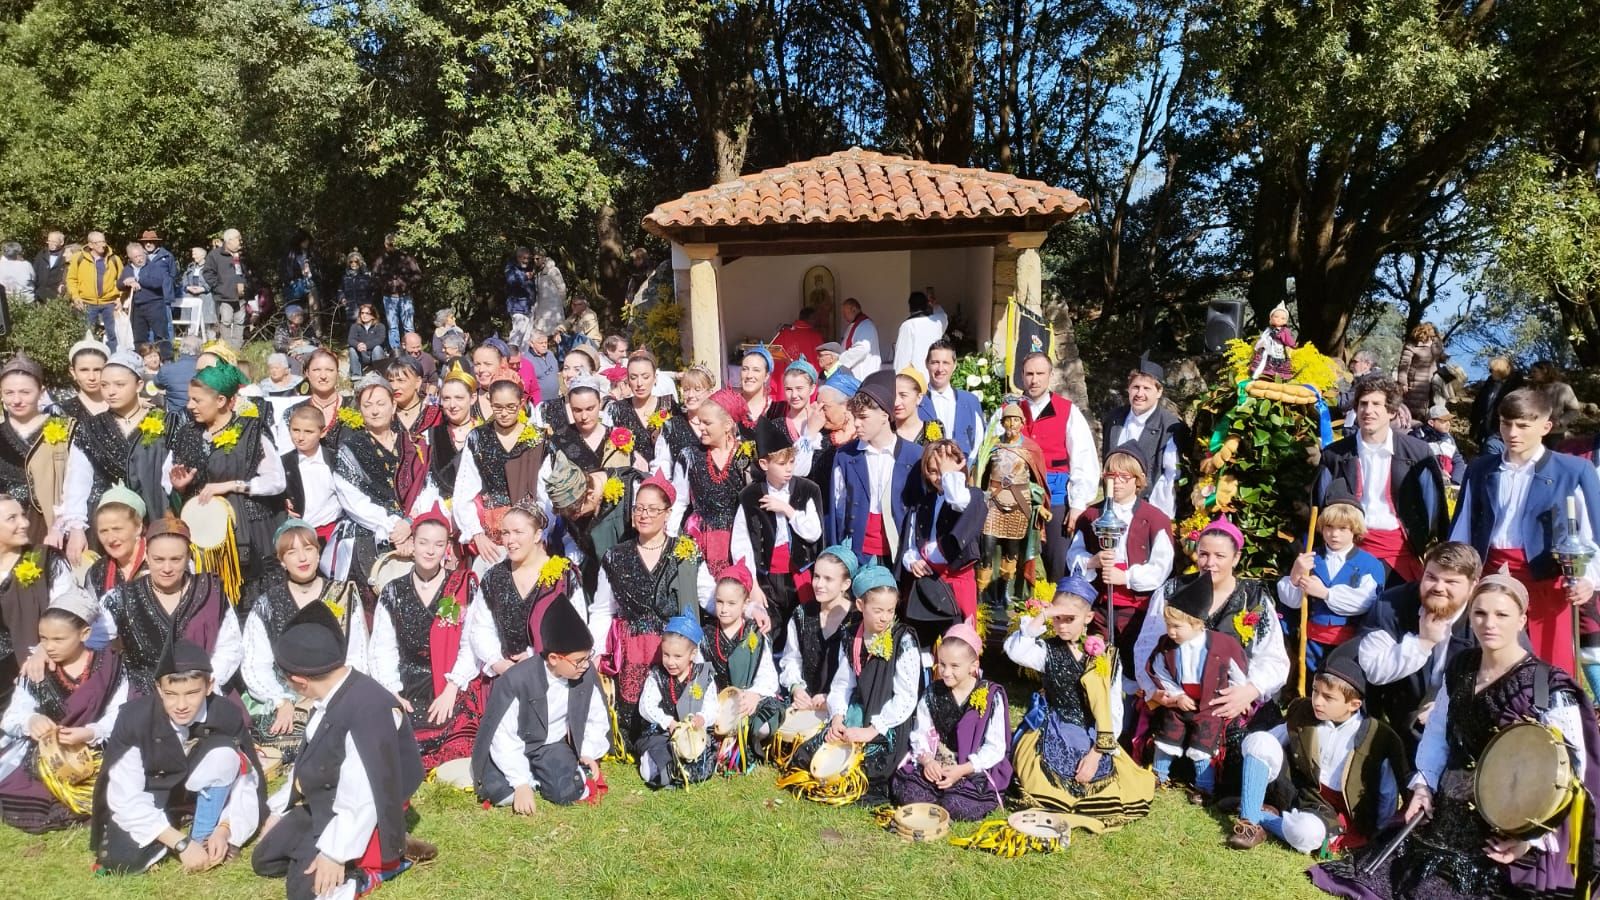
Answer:
POLYGON ((122 641, 130 695, 155 690, 162 655, 179 639, 211 655, 216 690, 227 692, 243 658, 243 633, 222 578, 189 572, 189 527, 171 516, 150 525, 144 551, 149 573, 107 593, 96 626, 106 641, 122 641))

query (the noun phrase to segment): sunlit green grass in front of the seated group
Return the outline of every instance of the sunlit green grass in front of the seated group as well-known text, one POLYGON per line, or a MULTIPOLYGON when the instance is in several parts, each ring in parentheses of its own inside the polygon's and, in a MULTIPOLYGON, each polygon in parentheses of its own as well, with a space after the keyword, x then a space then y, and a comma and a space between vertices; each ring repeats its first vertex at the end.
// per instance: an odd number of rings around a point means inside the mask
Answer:
MULTIPOLYGON (((424 785, 416 834, 438 844, 440 858, 378 897, 1318 897, 1306 857, 1270 844, 1229 850, 1224 823, 1176 791, 1162 791, 1149 818, 1120 833, 1077 833, 1061 854, 1002 860, 902 842, 862 809, 776 791, 770 769, 670 793, 645 790, 619 765, 606 767, 606 780, 611 793, 598 809, 541 801, 531 818, 424 785)), ((283 884, 256 878, 248 860, 195 878, 173 863, 125 878, 91 878, 88 866, 83 828, 37 838, 0 828, 0 884, 13 897, 42 897, 45 886, 54 897, 107 900, 283 895, 283 884)))

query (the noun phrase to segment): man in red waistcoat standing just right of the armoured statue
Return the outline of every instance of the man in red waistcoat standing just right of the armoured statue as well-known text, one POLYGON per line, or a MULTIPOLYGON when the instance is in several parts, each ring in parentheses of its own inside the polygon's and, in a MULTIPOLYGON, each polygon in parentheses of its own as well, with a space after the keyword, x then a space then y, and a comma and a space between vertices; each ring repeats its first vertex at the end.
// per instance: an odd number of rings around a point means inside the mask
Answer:
POLYGON ((1050 376, 1048 356, 1034 352, 1022 360, 1022 434, 1045 453, 1045 485, 1050 488, 1045 572, 1056 583, 1067 570, 1067 535, 1098 493, 1099 453, 1083 412, 1050 392, 1050 376))

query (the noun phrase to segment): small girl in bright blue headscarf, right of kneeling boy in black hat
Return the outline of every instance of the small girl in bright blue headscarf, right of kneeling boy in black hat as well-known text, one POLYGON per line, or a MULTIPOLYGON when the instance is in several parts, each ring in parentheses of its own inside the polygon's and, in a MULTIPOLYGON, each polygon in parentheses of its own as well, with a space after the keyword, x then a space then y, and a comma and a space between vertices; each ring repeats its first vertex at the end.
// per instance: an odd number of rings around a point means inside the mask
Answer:
MULTIPOLYGON (((680 730, 707 735, 717 721, 717 681, 710 663, 694 661, 706 633, 694 615, 672 617, 661 636, 661 661, 650 666, 638 695, 643 735, 638 740, 638 775, 651 788, 682 788, 710 778, 717 746, 706 740, 683 740, 680 730), (704 746, 704 753, 683 759, 675 746, 704 746)), ((693 735, 686 735, 693 737, 693 735)))

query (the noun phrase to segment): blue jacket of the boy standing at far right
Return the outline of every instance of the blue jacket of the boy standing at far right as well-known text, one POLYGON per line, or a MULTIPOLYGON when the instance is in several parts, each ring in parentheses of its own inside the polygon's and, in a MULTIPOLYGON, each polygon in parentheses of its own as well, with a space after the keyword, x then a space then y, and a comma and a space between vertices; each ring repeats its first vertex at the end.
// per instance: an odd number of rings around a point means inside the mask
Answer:
MULTIPOLYGON (((1467 466, 1461 508, 1456 509, 1458 524, 1462 514, 1467 516, 1467 540, 1485 559, 1490 552, 1490 535, 1501 516, 1494 508, 1494 496, 1499 493, 1502 458, 1501 453, 1491 453, 1478 456, 1467 466)), ((1528 500, 1523 501, 1510 532, 1528 557, 1528 569, 1534 578, 1555 578, 1562 573, 1550 549, 1566 536, 1566 498, 1579 488, 1590 527, 1600 527, 1600 477, 1595 476, 1594 466, 1554 450, 1546 450, 1534 463, 1528 500)))

